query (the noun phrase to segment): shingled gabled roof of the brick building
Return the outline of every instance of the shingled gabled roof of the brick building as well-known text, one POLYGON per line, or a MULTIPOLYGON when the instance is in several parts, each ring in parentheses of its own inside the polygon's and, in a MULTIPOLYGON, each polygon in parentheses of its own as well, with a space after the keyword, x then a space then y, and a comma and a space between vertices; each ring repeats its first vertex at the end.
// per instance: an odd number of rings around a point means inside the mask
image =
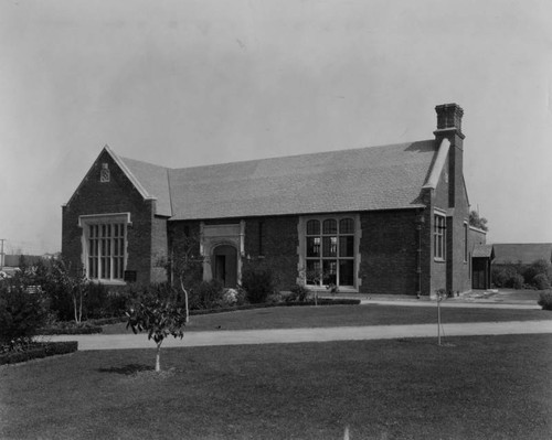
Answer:
POLYGON ((205 219, 422 206, 435 140, 167 169, 119 158, 157 214, 205 219))

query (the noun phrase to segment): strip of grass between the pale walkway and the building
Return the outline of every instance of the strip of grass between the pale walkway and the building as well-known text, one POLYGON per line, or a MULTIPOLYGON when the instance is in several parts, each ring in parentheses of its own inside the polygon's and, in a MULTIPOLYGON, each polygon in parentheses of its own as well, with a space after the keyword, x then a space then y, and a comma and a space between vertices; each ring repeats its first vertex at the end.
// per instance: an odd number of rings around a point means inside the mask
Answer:
MULTIPOLYGON (((444 323, 551 320, 552 313, 543 310, 443 308, 442 319, 444 323)), ((436 320, 436 307, 283 307, 191 316, 187 331, 431 324, 436 320)), ((104 326, 104 334, 127 332, 126 323, 104 326)))

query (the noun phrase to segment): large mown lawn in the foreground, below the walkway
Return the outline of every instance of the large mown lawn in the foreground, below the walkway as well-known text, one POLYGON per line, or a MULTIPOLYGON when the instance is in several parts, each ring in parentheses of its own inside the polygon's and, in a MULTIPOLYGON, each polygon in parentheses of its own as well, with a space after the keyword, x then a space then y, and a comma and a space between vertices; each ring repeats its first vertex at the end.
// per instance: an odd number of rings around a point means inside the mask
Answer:
POLYGON ((78 352, 0 367, 0 438, 550 439, 552 335, 78 352))

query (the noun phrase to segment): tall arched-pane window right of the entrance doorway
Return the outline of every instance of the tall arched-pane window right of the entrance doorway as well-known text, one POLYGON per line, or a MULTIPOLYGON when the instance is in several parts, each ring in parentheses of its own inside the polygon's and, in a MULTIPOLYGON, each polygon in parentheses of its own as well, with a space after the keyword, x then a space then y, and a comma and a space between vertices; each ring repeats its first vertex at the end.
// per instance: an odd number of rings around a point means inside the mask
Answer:
POLYGON ((306 229, 307 285, 354 286, 354 221, 309 219, 306 229))

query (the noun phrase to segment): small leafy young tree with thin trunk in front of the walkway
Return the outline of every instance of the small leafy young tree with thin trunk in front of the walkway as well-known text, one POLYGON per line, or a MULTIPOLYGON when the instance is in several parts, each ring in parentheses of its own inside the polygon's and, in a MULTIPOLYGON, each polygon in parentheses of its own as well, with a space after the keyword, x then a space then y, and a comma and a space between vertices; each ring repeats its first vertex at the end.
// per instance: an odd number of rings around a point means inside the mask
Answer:
POLYGON ((127 329, 136 334, 148 332, 148 340, 157 344, 156 372, 161 371, 161 344, 172 335, 182 339, 187 322, 185 312, 177 305, 176 298, 161 298, 159 294, 147 294, 127 312, 127 329))

